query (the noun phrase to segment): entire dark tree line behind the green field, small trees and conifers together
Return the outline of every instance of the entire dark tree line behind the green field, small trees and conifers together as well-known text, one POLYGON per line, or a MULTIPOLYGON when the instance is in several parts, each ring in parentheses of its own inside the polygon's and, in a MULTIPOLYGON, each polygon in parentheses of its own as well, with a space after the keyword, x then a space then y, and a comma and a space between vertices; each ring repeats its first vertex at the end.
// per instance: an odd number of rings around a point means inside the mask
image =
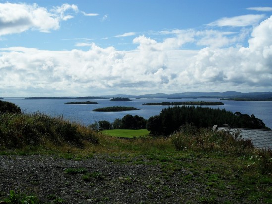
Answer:
POLYGON ((227 124, 229 127, 269 129, 263 121, 254 115, 232 113, 225 109, 213 109, 208 107, 174 106, 164 108, 159 115, 152 116, 148 120, 138 115, 125 115, 122 119, 115 119, 113 123, 108 121, 96 122, 97 130, 105 129, 147 129, 154 136, 169 135, 177 131, 184 124, 193 124, 199 128, 221 126, 227 124))

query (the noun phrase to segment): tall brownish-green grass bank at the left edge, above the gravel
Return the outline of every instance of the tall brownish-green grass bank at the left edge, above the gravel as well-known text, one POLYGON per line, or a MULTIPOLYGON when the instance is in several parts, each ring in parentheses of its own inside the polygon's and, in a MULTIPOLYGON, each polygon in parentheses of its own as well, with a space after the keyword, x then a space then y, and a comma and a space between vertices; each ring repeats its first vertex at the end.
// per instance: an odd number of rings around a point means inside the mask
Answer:
POLYGON ((23 148, 45 144, 61 145, 70 143, 82 146, 82 140, 97 143, 92 130, 78 128, 77 125, 51 118, 43 113, 0 114, 0 149, 23 148))

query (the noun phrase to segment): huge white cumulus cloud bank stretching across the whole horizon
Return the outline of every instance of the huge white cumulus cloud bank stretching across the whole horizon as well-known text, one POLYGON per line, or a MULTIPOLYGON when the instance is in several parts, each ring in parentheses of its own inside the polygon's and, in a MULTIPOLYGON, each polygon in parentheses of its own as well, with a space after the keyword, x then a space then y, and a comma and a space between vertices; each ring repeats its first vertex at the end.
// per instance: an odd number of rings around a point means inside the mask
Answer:
POLYGON ((272 89, 272 17, 252 29, 247 47, 233 44, 245 40, 248 31, 168 32, 171 37, 161 42, 140 35, 130 51, 94 43, 88 51, 0 49, 0 92, 46 90, 67 96, 272 89), (204 47, 186 50, 187 43, 204 47))

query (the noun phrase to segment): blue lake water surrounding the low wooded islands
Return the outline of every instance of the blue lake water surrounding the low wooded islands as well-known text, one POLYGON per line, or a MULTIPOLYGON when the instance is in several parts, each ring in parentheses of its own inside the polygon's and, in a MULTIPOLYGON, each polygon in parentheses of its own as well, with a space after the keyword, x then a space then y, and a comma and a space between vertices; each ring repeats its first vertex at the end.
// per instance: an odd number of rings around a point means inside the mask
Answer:
POLYGON ((131 98, 130 102, 111 102, 109 99, 89 100, 98 102, 98 104, 91 105, 65 105, 65 102, 84 102, 84 100, 71 99, 32 99, 26 100, 23 98, 5 98, 4 101, 9 101, 18 105, 25 113, 42 112, 53 117, 62 116, 70 121, 75 121, 83 125, 89 125, 99 120, 107 120, 113 122, 116 118, 123 116, 139 115, 145 119, 154 115, 159 115, 163 108, 168 106, 147 106, 143 103, 149 102, 186 102, 186 101, 209 101, 209 102, 223 102, 225 105, 219 106, 203 106, 211 108, 220 108, 242 114, 254 114, 255 117, 260 118, 267 127, 272 129, 272 102, 246 102, 246 101, 220 101, 218 99, 135 99, 131 98), (95 108, 109 107, 109 106, 131 106, 140 110, 124 111, 124 112, 94 112, 95 108))

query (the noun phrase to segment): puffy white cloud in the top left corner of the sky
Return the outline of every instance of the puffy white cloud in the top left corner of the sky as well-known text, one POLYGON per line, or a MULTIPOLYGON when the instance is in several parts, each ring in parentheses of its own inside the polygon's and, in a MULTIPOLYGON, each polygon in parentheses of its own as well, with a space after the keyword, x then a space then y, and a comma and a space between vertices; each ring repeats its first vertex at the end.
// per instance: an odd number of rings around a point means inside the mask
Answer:
POLYGON ((50 11, 37 4, 0 3, 0 36, 21 33, 29 29, 41 32, 57 30, 61 21, 73 18, 65 12, 77 12, 76 5, 63 4, 50 11))

